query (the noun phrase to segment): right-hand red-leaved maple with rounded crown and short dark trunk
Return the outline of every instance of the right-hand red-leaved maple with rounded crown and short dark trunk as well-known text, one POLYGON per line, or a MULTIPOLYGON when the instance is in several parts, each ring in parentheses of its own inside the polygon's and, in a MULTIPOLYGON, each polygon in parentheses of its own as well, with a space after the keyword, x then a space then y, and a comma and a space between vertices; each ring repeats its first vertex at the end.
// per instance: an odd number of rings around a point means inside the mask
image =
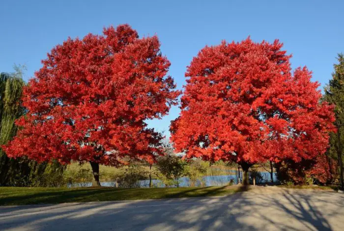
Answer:
POLYGON ((315 158, 334 130, 332 107, 319 103, 312 73, 293 74, 278 40, 205 47, 185 74, 180 116, 171 140, 186 157, 235 161, 244 171, 257 162, 315 158))

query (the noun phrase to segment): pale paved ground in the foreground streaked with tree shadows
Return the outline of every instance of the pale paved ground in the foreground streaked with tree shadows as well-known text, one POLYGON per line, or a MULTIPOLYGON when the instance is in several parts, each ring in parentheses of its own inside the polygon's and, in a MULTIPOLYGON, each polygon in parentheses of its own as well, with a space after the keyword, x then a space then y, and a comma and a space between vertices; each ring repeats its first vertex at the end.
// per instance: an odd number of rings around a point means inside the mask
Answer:
POLYGON ((226 197, 2 206, 0 230, 343 231, 344 194, 256 186, 226 197))

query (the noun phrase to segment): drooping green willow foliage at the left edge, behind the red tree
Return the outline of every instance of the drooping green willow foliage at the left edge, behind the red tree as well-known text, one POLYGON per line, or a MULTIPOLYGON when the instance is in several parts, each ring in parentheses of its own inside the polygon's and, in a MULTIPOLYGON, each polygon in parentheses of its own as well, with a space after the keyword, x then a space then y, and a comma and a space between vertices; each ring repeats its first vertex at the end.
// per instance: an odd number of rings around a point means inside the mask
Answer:
POLYGON ((0 74, 0 186, 59 186, 64 166, 38 164, 26 157, 8 158, 1 149, 1 145, 15 136, 18 128, 14 121, 25 112, 20 104, 25 67, 14 66, 14 69, 15 73, 0 74))

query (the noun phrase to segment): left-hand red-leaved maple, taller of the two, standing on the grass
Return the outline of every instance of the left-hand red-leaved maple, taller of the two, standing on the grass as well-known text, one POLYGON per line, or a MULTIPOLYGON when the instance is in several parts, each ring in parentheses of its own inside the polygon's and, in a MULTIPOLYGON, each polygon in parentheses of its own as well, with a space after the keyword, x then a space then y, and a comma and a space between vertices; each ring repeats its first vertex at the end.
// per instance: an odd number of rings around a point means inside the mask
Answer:
POLYGON ((104 28, 103 35, 68 38, 42 63, 24 89, 28 113, 3 147, 8 156, 88 161, 100 185, 99 164, 161 154, 161 135, 144 121, 167 114, 180 92, 166 76, 170 62, 156 36, 140 39, 128 25, 104 28))

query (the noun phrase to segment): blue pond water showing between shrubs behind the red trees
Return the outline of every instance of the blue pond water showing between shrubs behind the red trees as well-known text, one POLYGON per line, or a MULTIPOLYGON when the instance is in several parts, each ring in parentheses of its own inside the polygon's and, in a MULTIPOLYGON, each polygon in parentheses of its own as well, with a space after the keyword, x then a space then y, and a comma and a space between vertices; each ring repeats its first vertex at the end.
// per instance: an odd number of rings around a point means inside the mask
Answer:
MULTIPOLYGON (((195 182, 195 186, 223 186, 227 185, 230 180, 233 181, 234 184, 238 183, 238 175, 237 171, 235 170, 227 170, 229 172, 229 175, 221 175, 221 176, 204 176, 201 180, 198 180, 195 182)), ((257 180, 256 183, 264 183, 264 182, 270 182, 271 177, 269 172, 260 172, 261 179, 257 180)), ((242 172, 240 172, 240 179, 242 180, 242 172)), ((273 174, 273 180, 274 182, 277 182, 277 175, 276 173, 273 174)), ((179 179, 179 187, 190 187, 191 182, 188 177, 182 177, 179 179)), ((116 182, 115 181, 104 181, 100 182, 102 186, 107 187, 115 187, 116 182)), ((68 187, 89 187, 92 186, 91 182, 86 183, 75 183, 73 185, 68 185, 68 187)), ((139 180, 137 182, 137 187, 149 187, 149 180, 139 180)), ((165 187, 165 185, 161 182, 161 180, 152 180, 152 187, 165 187)), ((176 187, 176 186, 175 186, 176 187)))

